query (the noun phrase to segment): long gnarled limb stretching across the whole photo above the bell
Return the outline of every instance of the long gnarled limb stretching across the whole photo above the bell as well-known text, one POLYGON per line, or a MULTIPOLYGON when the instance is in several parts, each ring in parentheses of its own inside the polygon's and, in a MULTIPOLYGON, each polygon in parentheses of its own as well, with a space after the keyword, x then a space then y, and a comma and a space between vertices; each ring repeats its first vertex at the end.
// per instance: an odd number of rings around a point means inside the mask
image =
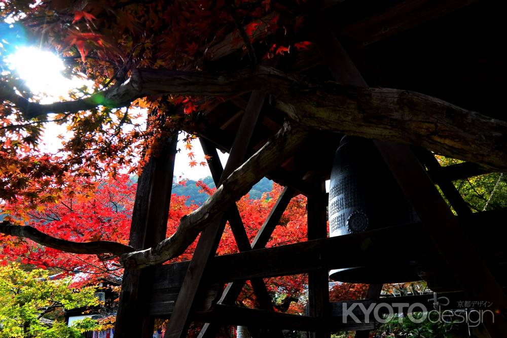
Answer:
POLYGON ((313 82, 268 66, 222 75, 138 69, 123 85, 75 101, 40 105, 19 96, 7 98, 32 118, 97 105, 123 107, 147 95, 230 96, 254 89, 273 94, 277 107, 307 128, 423 146, 507 171, 505 121, 412 91, 313 82))

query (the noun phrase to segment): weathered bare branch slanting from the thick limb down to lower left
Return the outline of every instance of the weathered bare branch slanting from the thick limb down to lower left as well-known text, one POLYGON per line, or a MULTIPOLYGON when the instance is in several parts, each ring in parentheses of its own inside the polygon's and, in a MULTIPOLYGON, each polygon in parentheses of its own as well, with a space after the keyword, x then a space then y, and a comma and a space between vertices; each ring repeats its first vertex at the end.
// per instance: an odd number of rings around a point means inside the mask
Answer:
POLYGON ((246 194, 267 172, 294 155, 305 142, 306 135, 307 132, 298 126, 284 123, 276 136, 237 168, 199 209, 182 217, 176 232, 170 238, 150 249, 123 255, 120 259, 122 265, 127 268, 142 268, 163 263, 182 254, 206 225, 222 217, 224 211, 246 194))

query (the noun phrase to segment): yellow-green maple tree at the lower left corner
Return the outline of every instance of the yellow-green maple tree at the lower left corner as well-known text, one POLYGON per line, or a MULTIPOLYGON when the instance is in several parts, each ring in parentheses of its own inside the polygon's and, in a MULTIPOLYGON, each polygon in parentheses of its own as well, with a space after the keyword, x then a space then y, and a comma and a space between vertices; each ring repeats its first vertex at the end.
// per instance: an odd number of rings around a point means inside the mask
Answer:
POLYGON ((95 289, 69 288, 70 278, 51 280, 47 271, 24 271, 13 263, 0 267, 0 337, 82 337, 97 329, 89 318, 71 326, 61 318, 62 309, 99 305, 95 289))

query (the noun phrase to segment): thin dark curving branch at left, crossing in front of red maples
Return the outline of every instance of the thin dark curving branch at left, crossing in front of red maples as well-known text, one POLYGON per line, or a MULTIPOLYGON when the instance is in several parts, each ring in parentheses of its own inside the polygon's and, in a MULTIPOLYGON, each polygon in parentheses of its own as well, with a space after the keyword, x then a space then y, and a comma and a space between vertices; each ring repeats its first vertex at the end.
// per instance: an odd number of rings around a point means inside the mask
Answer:
POLYGON ((41 232, 32 226, 14 225, 9 221, 0 222, 0 233, 27 238, 49 248, 77 254, 112 253, 116 256, 121 256, 134 251, 134 248, 117 242, 95 241, 79 243, 66 241, 41 232))

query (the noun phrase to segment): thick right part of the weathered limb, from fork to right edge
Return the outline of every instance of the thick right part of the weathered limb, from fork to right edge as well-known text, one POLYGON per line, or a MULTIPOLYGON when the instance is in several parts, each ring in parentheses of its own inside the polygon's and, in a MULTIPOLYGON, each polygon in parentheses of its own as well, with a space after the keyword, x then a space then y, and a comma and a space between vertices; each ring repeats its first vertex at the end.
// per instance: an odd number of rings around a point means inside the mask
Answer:
POLYGON ((436 153, 507 171, 507 122, 428 95, 327 82, 281 94, 276 107, 300 124, 436 153), (290 104, 287 104, 290 103, 290 104))

